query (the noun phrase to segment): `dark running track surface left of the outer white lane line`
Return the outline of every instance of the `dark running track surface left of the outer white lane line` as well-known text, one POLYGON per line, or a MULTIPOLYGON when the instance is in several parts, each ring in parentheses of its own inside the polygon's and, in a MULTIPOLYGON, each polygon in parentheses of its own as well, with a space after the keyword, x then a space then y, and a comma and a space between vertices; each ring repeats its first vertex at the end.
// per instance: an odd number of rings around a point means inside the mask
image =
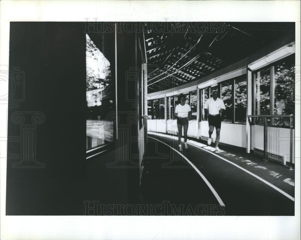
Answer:
MULTIPOLYGON (((179 152, 175 139, 148 136, 141 203, 184 206, 178 215, 294 215, 292 199, 240 168, 196 146, 179 152), (203 211, 190 211, 197 206, 203 211)), ((280 190, 294 197, 291 186, 280 190)))

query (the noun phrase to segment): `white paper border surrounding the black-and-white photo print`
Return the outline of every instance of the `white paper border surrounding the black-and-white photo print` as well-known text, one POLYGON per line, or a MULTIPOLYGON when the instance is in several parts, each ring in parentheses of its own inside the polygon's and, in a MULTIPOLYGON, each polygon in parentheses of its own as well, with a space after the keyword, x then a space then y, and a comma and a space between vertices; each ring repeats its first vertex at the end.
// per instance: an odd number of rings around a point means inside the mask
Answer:
MULTIPOLYGON (((300 1, 1 1, 0 65, 11 21, 295 22, 300 74, 300 1)), ((2 70, 0 69, 0 70, 2 70)), ((300 79, 300 77, 298 78, 300 79)), ((300 81, 296 82, 300 96, 300 81)), ((0 81, 0 96, 8 82, 0 81)), ((295 126, 295 216, 5 216, 7 101, 0 104, 1 239, 300 239, 300 125, 295 126)), ((296 123, 300 107, 296 107, 296 123)))

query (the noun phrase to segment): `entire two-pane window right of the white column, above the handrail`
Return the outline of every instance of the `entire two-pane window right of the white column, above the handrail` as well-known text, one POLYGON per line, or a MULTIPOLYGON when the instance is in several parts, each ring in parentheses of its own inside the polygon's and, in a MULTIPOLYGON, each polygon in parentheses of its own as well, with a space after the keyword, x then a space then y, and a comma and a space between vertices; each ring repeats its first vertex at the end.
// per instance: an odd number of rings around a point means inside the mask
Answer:
MULTIPOLYGON (((253 77, 256 88, 254 103, 256 115, 294 114, 295 54, 255 71, 253 77)), ((269 125, 290 126, 290 119, 271 118, 269 125)))

